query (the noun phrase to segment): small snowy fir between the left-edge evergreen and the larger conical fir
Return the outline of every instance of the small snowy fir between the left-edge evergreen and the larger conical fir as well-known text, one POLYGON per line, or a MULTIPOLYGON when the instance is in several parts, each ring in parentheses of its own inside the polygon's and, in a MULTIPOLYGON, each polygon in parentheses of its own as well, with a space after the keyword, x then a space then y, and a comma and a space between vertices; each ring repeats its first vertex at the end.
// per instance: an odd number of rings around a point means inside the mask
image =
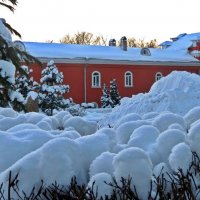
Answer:
POLYGON ((17 71, 15 89, 26 98, 29 92, 38 90, 39 84, 30 76, 32 69, 29 69, 28 66, 25 65, 21 66, 21 69, 24 73, 22 74, 17 71))

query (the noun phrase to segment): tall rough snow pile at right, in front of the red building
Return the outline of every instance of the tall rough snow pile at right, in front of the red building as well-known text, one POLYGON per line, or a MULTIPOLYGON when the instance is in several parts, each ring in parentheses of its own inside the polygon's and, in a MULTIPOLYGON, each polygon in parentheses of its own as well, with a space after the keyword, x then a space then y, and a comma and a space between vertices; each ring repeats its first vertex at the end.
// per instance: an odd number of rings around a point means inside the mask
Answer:
POLYGON ((199 75, 173 71, 155 82, 148 93, 122 99, 121 105, 114 108, 99 124, 114 126, 122 116, 133 112, 144 115, 148 112, 170 111, 184 115, 190 109, 200 106, 199 88, 199 75))

